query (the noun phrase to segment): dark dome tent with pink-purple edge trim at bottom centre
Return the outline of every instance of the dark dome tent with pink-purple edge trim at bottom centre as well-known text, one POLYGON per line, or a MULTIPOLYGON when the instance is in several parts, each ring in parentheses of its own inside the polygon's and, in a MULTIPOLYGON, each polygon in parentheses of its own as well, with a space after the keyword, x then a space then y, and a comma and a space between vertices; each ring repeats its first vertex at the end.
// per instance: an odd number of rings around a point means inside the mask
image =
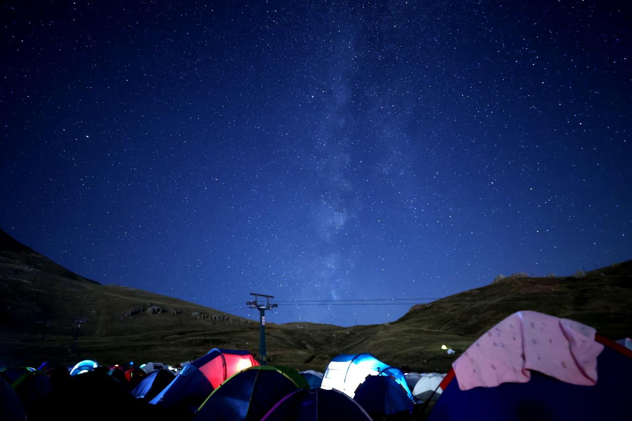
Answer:
POLYGON ((274 405, 262 420, 370 421, 371 417, 356 401, 336 389, 298 389, 274 405))

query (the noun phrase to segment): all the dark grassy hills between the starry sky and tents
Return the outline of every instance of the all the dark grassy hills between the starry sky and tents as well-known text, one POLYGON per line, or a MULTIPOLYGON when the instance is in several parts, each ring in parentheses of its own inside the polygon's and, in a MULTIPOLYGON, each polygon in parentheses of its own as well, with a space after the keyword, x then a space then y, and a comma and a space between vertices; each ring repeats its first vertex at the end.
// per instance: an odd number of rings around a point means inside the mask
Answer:
MULTIPOLYGON (((323 370, 338 353, 373 353, 416 371, 446 371, 441 345, 465 350, 507 315, 535 310, 578 320, 611 338, 632 334, 632 261, 581 278, 505 278, 416 305, 395 322, 339 327, 267 324, 272 364, 323 370)), ((179 363, 211 348, 258 351, 258 323, 212 308, 74 274, 0 230, 0 364, 44 360, 179 363), (75 320, 85 320, 69 352, 75 320)))

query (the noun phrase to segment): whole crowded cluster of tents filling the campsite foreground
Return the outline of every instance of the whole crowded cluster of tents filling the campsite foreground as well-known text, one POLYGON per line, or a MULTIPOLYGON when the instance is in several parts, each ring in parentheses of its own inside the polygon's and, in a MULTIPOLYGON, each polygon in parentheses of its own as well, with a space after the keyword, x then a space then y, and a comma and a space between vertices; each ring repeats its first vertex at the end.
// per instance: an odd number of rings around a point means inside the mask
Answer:
POLYGON ((370 354, 298 372, 214 349, 177 374, 161 363, 85 360, 70 370, 11 367, 0 377, 0 419, 8 421, 604 419, 628 412, 632 352, 570 320, 519 312, 447 375, 404 374, 370 354))

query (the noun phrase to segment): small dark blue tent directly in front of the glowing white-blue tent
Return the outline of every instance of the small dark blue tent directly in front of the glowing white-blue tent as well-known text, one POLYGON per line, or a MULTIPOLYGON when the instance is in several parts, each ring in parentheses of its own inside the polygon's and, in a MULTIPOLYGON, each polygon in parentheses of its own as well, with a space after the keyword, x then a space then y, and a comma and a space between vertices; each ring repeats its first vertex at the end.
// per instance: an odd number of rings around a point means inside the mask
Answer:
MULTIPOLYGON (((381 373, 385 373, 382 371, 381 373)), ((410 413, 413 401, 391 375, 369 375, 356 389, 353 399, 373 418, 396 413, 410 413)))

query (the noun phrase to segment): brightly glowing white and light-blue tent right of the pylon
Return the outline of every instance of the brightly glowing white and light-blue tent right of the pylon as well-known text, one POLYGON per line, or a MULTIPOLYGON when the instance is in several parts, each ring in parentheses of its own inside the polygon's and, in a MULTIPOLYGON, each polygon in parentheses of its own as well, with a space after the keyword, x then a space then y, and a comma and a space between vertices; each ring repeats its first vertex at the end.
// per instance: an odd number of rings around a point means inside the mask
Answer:
POLYGON ((389 367, 370 354, 337 355, 327 365, 320 387, 337 389, 353 398, 356 389, 368 375, 380 375, 380 373, 394 377, 395 381, 404 388, 408 398, 413 400, 413 394, 408 388, 406 378, 401 370, 389 367))

